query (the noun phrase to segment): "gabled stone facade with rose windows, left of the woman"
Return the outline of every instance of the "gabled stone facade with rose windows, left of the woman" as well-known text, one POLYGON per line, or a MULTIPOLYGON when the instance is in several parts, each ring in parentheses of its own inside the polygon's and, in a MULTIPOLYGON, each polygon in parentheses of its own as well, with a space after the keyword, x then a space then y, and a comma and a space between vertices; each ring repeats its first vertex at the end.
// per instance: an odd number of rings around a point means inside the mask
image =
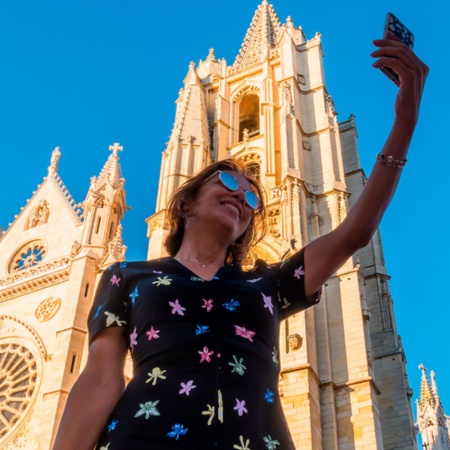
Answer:
POLYGON ((85 363, 87 314, 100 272, 124 259, 121 147, 110 150, 77 205, 58 175, 55 148, 48 175, 0 233, 2 449, 50 448, 85 363))

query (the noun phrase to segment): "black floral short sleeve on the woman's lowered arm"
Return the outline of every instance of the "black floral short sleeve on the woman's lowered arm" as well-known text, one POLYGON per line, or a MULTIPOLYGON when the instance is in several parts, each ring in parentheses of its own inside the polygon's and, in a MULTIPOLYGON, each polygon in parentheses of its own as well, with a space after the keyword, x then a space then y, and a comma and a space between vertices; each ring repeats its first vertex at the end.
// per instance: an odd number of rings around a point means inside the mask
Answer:
POLYGON ((89 343, 105 328, 123 327, 125 331, 128 299, 124 295, 124 283, 120 263, 113 264, 103 272, 88 316, 89 343))

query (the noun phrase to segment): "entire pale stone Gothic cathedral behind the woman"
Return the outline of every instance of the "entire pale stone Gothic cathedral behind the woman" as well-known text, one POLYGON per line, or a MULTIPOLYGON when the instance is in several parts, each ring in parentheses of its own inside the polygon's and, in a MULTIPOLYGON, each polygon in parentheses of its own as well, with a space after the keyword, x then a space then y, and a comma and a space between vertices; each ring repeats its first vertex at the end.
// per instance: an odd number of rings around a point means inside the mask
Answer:
MULTIPOLYGON (((267 0, 231 65, 213 49, 190 64, 176 105, 147 219, 149 259, 165 255, 168 198, 214 161, 239 160, 264 186, 268 233, 249 266, 283 260, 329 232, 364 186, 354 117, 338 122, 326 89, 321 36, 308 39, 290 17, 281 23, 267 0)), ((2 449, 51 448, 86 361, 99 277, 125 260, 122 147, 109 149, 76 203, 55 148, 44 181, 0 231, 2 449)), ((425 371, 414 424, 389 278, 376 233, 327 282, 320 304, 282 324, 280 395, 297 449, 414 450, 418 429, 429 450, 450 448, 448 417, 425 371)))

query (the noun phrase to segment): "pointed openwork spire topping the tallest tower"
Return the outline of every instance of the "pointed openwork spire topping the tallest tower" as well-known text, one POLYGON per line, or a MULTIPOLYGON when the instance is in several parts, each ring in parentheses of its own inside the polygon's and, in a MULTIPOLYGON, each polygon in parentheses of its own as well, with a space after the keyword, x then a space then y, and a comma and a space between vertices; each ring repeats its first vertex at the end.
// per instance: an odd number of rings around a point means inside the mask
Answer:
POLYGON ((280 20, 273 6, 263 0, 253 16, 234 67, 243 69, 264 61, 269 50, 277 46, 280 31, 280 20))

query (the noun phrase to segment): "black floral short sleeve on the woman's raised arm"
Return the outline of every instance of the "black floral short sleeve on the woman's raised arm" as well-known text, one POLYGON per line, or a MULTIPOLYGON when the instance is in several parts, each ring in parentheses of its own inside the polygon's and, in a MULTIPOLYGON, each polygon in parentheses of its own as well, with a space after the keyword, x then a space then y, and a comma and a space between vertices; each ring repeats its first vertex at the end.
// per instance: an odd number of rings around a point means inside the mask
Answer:
POLYGON ((280 263, 278 268, 278 298, 281 304, 281 319, 286 319, 320 301, 322 289, 307 298, 305 294, 304 249, 280 263))

